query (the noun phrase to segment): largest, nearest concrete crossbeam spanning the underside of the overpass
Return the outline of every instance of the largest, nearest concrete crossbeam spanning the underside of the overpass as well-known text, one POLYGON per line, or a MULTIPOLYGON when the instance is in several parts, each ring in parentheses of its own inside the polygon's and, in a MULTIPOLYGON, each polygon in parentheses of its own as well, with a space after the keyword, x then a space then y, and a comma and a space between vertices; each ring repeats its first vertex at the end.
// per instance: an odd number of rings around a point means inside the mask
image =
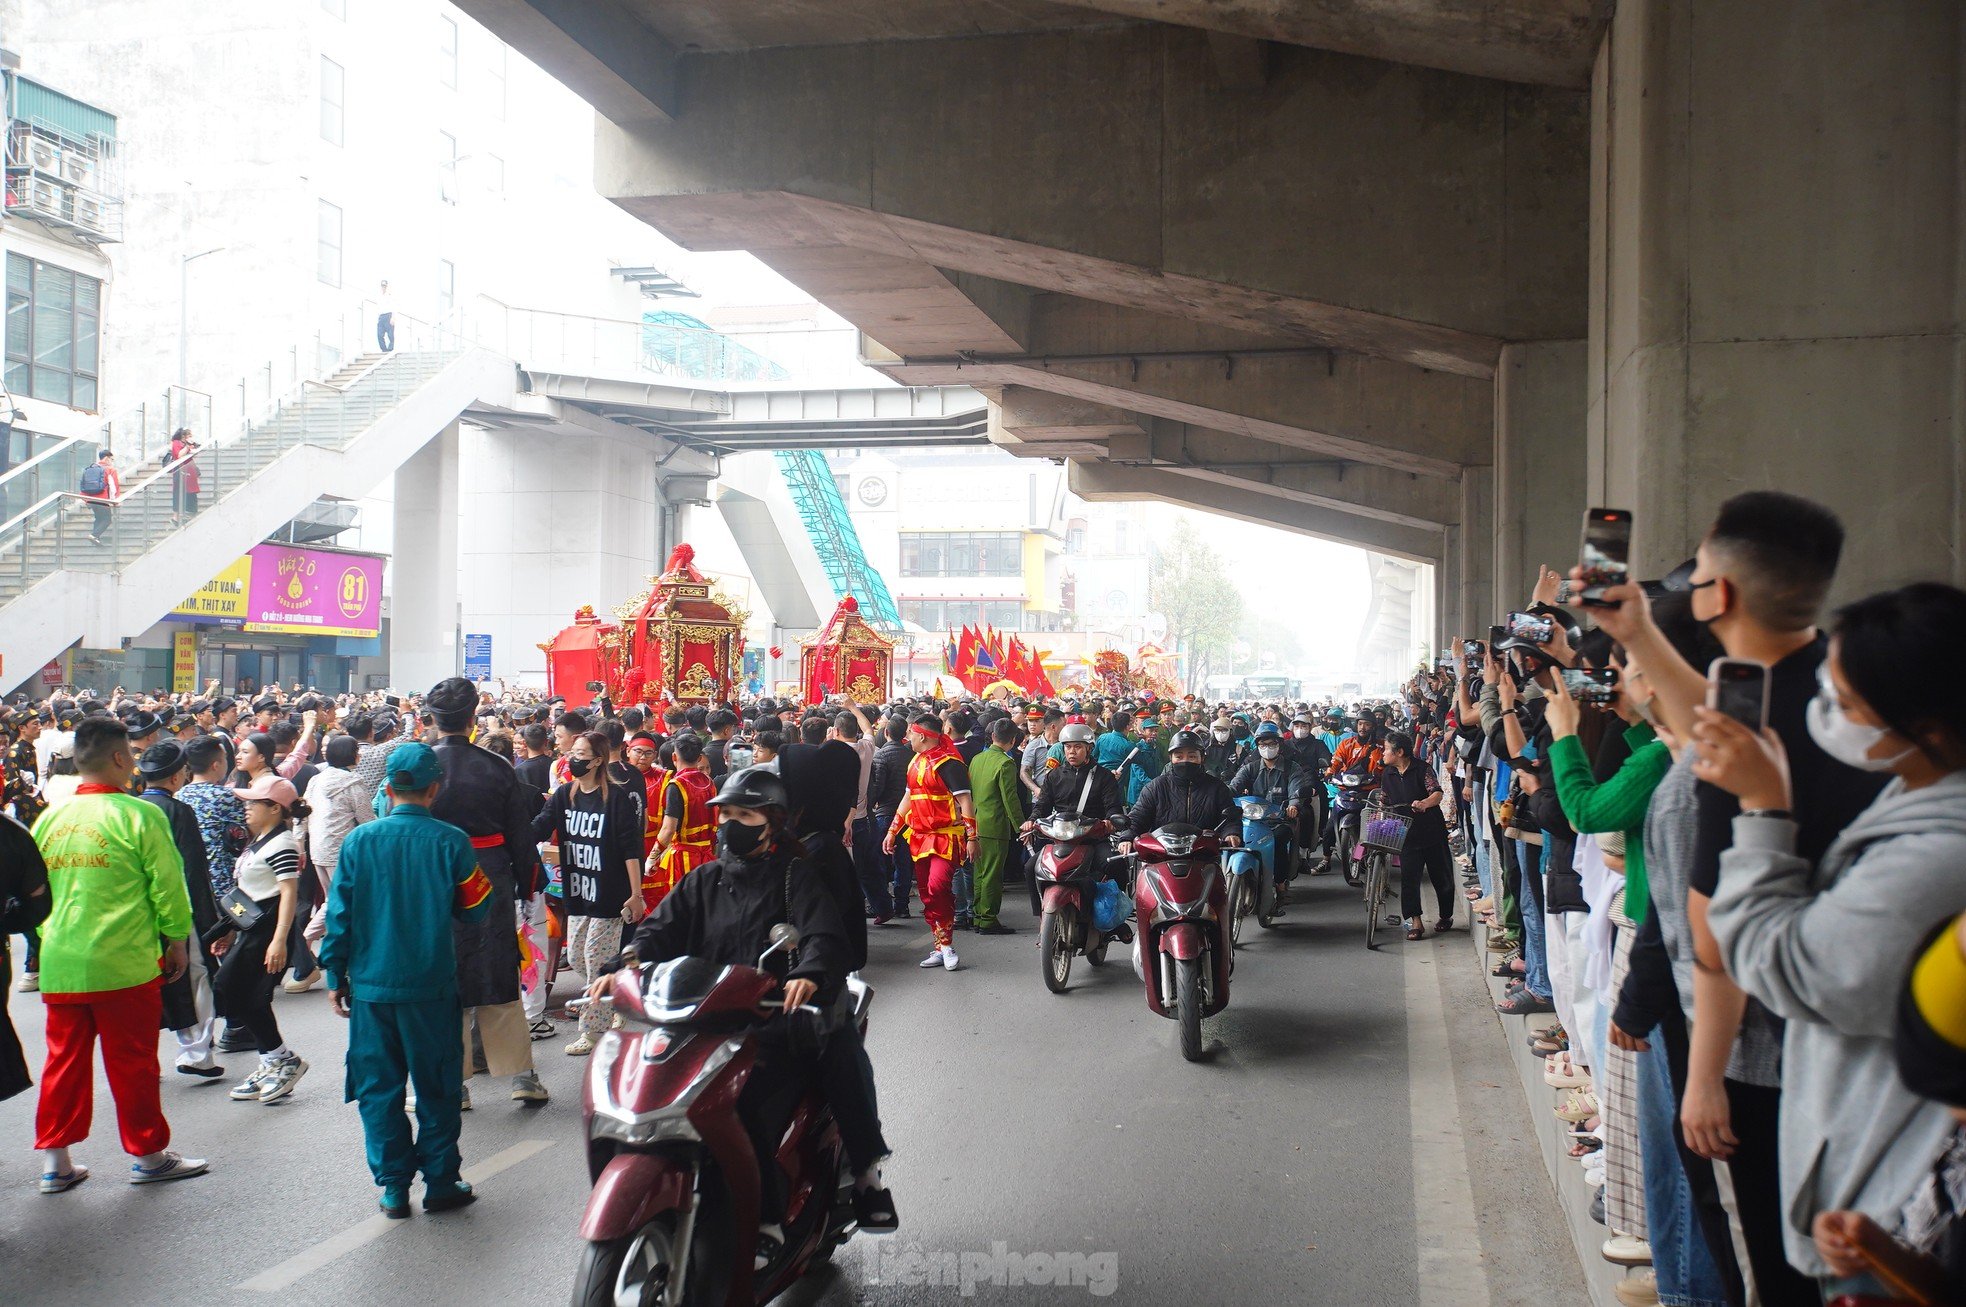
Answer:
POLYGON ((1583 334, 1575 92, 1276 47, 1223 96, 1174 28, 692 55, 682 92, 602 124, 598 189, 788 275, 883 254, 1482 377, 1583 334))

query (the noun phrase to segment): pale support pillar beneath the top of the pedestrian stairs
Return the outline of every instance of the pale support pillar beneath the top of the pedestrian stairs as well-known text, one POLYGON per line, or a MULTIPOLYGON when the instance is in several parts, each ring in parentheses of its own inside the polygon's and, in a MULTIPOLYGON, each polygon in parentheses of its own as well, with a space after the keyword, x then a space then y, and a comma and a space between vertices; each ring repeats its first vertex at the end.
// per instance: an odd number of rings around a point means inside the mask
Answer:
POLYGON ((458 425, 395 472, 389 680, 423 694, 458 674, 458 425))

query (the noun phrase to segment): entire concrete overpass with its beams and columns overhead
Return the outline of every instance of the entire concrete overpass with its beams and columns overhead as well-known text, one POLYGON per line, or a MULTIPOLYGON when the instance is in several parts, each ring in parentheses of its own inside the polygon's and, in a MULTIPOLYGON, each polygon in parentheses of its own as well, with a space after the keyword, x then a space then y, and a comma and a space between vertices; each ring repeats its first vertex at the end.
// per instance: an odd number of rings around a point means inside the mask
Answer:
POLYGON ((1779 485, 1844 594, 1962 578, 1948 0, 460 0, 989 438, 1439 564, 1469 629, 1587 503, 1683 558, 1779 485))

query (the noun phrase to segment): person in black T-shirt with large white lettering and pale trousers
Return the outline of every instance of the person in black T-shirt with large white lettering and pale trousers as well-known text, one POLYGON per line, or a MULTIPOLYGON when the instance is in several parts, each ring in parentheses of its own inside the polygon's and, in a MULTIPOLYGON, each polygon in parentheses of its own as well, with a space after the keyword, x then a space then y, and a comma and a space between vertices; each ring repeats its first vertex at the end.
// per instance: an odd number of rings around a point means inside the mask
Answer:
MULTIPOLYGON (((584 731, 566 751, 570 780, 533 818, 533 837, 560 837, 560 894, 566 902, 566 955, 592 987, 609 957, 621 951, 621 928, 643 918, 641 806, 635 792, 607 778, 609 741, 584 731)), ((586 1057, 607 1030, 600 1004, 580 1010, 580 1038, 568 1057, 586 1057)))

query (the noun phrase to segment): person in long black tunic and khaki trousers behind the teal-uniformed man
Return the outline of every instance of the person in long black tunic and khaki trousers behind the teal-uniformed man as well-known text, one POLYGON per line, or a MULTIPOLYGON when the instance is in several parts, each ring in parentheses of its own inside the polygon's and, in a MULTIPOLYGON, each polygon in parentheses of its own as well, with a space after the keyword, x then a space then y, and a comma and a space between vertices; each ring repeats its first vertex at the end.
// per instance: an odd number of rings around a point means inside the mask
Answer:
MULTIPOLYGON (((484 922, 454 922, 458 998, 464 1004, 464 1057, 472 1065, 472 1026, 484 1042, 486 1071, 509 1075, 511 1097, 545 1103, 547 1087, 533 1069, 533 1038, 519 994, 517 906, 541 884, 533 849, 537 796, 519 780, 511 763, 470 741, 478 715, 478 686, 452 676, 423 698, 436 729, 434 753, 444 765, 444 784, 431 816, 450 822, 472 839, 478 865, 492 881, 492 914, 484 922)), ((468 1101, 468 1099, 466 1099, 468 1101)))

